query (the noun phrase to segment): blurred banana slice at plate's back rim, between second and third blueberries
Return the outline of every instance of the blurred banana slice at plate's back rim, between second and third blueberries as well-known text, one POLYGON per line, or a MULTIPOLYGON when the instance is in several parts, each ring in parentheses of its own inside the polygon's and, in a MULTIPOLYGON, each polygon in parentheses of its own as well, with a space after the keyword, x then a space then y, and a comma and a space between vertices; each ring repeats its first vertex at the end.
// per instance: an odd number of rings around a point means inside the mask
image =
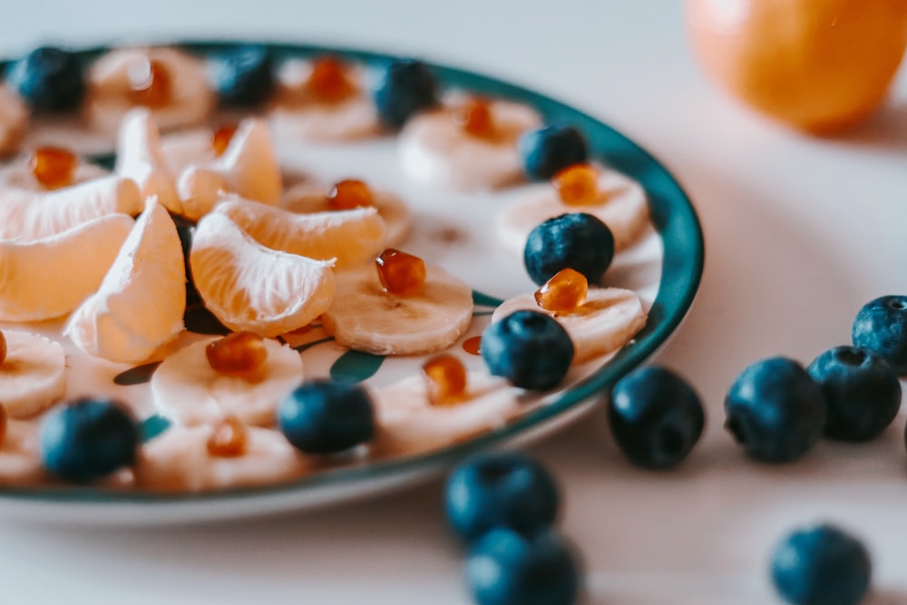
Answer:
POLYGON ((381 131, 375 103, 366 93, 361 70, 347 70, 347 78, 356 89, 350 96, 324 102, 307 86, 312 64, 294 60, 281 65, 278 92, 268 112, 274 132, 307 141, 352 141, 381 131))

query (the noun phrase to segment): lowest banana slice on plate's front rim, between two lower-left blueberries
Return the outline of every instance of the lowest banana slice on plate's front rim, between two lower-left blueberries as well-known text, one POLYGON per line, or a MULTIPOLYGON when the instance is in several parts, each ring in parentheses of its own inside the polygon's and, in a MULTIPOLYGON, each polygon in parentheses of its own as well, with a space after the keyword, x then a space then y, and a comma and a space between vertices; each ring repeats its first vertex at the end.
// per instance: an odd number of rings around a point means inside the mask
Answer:
POLYGON ((155 492, 203 492, 284 483, 309 469, 283 434, 255 426, 248 427, 245 454, 211 455, 213 430, 208 425, 171 426, 143 445, 135 466, 137 483, 155 492))

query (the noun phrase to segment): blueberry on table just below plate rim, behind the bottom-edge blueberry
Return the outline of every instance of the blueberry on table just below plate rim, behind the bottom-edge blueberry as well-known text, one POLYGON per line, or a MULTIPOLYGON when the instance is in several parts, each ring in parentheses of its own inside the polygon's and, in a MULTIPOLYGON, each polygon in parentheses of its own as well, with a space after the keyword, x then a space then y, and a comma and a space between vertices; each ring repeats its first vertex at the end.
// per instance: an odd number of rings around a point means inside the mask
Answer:
POLYGON ((478 454, 447 478, 447 522, 463 542, 493 527, 536 532, 554 522, 558 489, 551 474, 526 454, 478 454))

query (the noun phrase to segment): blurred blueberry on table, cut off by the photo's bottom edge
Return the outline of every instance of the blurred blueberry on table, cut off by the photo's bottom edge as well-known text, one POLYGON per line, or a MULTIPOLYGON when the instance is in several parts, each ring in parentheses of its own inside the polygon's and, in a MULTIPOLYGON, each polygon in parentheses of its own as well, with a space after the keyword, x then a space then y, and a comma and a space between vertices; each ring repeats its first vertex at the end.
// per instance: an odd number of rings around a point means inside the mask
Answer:
POLYGON ((572 605, 579 599, 578 565, 551 529, 527 535, 495 528, 475 542, 464 571, 479 605, 572 605))

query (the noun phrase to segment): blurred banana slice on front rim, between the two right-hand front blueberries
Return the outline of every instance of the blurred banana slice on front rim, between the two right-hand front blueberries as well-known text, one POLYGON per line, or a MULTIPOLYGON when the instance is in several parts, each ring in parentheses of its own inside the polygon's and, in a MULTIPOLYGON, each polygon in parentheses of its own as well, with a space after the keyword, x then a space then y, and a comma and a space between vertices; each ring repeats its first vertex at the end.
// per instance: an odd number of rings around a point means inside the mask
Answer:
POLYGON ((420 454, 503 426, 520 413, 522 391, 487 372, 466 376, 467 395, 453 405, 429 403, 422 376, 373 390, 376 455, 420 454))

